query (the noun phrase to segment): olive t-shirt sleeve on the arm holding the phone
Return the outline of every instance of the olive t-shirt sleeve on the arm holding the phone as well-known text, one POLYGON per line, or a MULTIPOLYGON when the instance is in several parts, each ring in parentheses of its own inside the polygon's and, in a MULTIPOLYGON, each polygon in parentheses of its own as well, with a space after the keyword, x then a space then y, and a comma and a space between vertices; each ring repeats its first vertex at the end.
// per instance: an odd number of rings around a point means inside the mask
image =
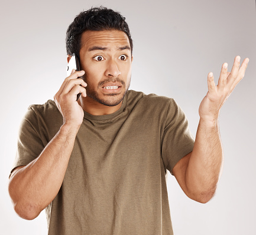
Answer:
MULTIPOLYGON (((21 121, 18 133, 17 153, 14 161, 14 168, 25 166, 40 155, 44 144, 40 138, 37 116, 33 108, 29 107, 21 121)), ((11 172, 12 172, 11 171, 11 172)))

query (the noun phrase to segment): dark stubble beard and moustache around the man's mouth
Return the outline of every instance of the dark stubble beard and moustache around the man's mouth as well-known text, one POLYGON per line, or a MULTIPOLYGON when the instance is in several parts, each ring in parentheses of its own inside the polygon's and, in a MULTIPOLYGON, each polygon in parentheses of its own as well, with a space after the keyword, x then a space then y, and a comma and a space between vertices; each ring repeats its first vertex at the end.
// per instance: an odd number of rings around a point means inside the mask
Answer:
POLYGON ((98 84, 98 88, 101 88, 102 85, 107 82, 116 82, 116 81, 120 82, 122 84, 122 88, 124 88, 124 90, 122 90, 121 93, 104 94, 104 97, 106 97, 106 98, 100 98, 99 92, 96 91, 95 89, 91 88, 90 85, 88 84, 88 87, 86 87, 86 95, 88 97, 92 98, 93 100, 99 102, 100 104, 103 104, 103 105, 106 105, 109 107, 116 106, 116 105, 120 104, 120 102, 122 100, 124 100, 125 94, 127 93, 128 89, 129 89, 129 85, 131 83, 131 77, 128 81, 127 87, 125 86, 125 82, 119 78, 109 78, 109 79, 106 79, 98 84))

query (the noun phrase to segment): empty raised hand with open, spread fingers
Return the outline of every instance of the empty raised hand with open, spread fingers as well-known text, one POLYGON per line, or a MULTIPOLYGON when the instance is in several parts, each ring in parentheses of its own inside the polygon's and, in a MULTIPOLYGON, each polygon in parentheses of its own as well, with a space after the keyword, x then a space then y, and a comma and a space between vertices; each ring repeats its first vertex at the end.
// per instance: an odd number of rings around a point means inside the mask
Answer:
POLYGON ((208 93, 205 98, 203 98, 199 107, 199 115, 202 120, 209 121, 210 123, 218 120, 219 111, 221 110, 222 105, 238 82, 244 78, 249 58, 244 59, 241 67, 240 59, 239 55, 235 57, 231 72, 228 72, 228 64, 226 62, 222 65, 218 85, 215 85, 213 74, 212 72, 209 72, 208 93))

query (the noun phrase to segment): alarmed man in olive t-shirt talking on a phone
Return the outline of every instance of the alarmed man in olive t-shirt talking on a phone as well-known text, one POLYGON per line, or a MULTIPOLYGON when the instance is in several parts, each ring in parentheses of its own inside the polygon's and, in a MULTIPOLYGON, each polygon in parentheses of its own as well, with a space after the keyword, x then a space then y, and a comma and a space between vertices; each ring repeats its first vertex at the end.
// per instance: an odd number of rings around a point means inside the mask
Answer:
POLYGON ((166 170, 193 200, 213 197, 219 111, 249 59, 240 67, 236 57, 231 72, 224 63, 218 85, 208 74, 194 140, 173 99, 128 90, 132 39, 121 15, 81 12, 66 42, 67 61, 76 54, 81 71, 24 117, 9 181, 15 211, 31 220, 46 208, 48 234, 173 234, 166 170))

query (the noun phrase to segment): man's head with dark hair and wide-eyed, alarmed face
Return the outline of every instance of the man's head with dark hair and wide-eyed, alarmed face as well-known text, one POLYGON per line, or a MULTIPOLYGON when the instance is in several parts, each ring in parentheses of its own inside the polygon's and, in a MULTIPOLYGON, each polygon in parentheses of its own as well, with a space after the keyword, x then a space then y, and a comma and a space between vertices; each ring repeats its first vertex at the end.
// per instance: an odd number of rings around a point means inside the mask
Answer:
POLYGON ((81 12, 67 29, 66 42, 68 61, 76 54, 85 71, 85 106, 119 107, 131 80, 132 39, 125 18, 106 8, 81 12))

